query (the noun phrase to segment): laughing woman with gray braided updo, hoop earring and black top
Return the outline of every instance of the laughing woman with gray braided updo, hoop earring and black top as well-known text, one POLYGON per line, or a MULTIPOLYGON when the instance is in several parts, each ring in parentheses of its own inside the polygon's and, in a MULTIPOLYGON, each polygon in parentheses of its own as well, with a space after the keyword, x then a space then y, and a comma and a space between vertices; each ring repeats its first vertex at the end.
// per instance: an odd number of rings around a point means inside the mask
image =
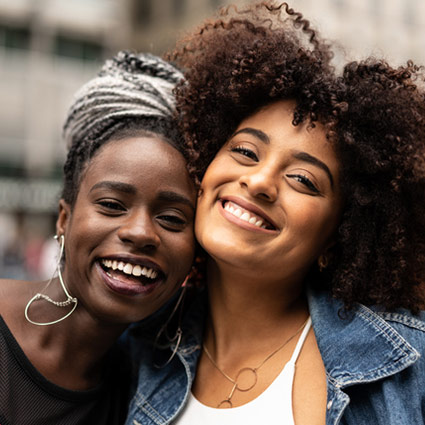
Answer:
POLYGON ((120 424, 116 340, 192 264, 196 191, 175 123, 176 68, 120 52, 76 94, 59 201, 57 275, 0 282, 0 423, 120 424))

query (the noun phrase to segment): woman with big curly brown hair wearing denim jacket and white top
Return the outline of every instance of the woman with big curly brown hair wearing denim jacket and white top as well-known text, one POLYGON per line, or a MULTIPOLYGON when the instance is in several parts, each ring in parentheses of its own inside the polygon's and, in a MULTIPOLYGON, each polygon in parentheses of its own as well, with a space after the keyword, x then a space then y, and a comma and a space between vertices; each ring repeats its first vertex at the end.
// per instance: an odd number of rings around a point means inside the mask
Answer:
POLYGON ((204 258, 134 423, 424 423, 424 74, 331 57, 269 2, 170 54, 204 258))

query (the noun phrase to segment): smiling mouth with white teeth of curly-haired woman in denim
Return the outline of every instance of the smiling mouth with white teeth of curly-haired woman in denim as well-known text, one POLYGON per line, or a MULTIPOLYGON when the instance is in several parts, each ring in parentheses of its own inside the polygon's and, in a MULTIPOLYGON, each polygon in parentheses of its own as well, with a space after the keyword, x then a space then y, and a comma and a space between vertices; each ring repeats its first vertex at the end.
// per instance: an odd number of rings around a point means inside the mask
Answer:
POLYGON ((259 208, 241 199, 221 199, 223 210, 253 227, 276 231, 277 227, 259 208))

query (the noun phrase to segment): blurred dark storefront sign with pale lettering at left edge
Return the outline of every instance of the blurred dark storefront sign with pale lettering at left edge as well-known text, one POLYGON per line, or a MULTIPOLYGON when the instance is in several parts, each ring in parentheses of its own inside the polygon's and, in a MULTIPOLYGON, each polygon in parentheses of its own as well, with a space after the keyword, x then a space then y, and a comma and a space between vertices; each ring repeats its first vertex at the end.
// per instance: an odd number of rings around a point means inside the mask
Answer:
POLYGON ((0 211, 55 212, 61 189, 54 180, 0 178, 0 211))

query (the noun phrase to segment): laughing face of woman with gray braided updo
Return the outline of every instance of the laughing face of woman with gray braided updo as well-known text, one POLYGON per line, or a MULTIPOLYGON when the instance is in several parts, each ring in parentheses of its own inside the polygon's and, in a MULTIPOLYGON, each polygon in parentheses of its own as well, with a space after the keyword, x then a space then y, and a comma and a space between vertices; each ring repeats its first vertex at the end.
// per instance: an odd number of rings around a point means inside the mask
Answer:
POLYGON ((110 141, 90 161, 71 208, 61 201, 64 279, 90 314, 141 320, 185 279, 195 189, 183 156, 156 137, 110 141))

